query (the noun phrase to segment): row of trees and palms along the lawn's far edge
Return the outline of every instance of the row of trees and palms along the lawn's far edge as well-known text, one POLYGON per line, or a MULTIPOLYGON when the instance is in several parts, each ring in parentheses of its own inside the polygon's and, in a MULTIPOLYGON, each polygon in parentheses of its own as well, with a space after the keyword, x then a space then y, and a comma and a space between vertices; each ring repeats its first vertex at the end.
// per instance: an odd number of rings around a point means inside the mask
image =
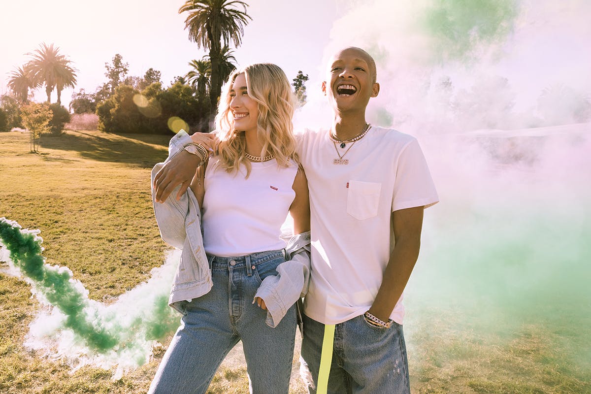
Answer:
MULTIPOLYGON (((41 108, 21 110, 37 105, 31 103, 30 95, 45 87, 47 103, 42 106, 50 109, 50 119, 47 124, 37 121, 45 125, 38 127, 41 132, 61 132, 59 124, 69 119, 70 112, 96 113, 99 129, 106 132, 169 133, 178 128, 206 131, 215 116, 222 84, 236 67, 230 45, 241 45, 244 27, 252 20, 247 8, 246 2, 238 0, 187 0, 178 12, 186 15, 184 24, 189 40, 208 50, 206 56, 191 60, 189 71, 164 87, 160 71, 150 68, 142 77, 128 76, 129 64, 121 54, 115 54, 111 63, 105 63, 106 82, 92 93, 84 89, 74 92, 69 110, 61 106, 61 92, 76 86, 78 70, 67 56, 60 54, 59 47, 43 43, 29 53, 31 60, 9 77, 12 94, 0 97, 0 129, 28 128, 22 116, 47 114, 41 108), (57 102, 51 104, 54 90, 57 102), (60 122, 50 127, 51 122, 56 123, 56 117, 60 122)), ((301 71, 294 79, 300 102, 306 100, 307 79, 301 71)))

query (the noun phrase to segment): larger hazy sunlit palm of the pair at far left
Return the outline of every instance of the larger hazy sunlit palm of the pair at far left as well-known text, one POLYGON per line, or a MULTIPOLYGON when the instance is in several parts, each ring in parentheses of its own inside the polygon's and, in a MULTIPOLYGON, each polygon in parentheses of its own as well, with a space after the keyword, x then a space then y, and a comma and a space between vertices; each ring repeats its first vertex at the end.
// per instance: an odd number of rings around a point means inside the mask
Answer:
POLYGON ((59 53, 60 48, 53 44, 43 43, 34 53, 28 53, 33 59, 27 63, 27 69, 31 70, 33 81, 45 85, 47 102, 51 103, 51 92, 57 88, 57 102, 61 105, 61 90, 64 87, 76 85, 76 69, 70 66, 68 58, 59 53))

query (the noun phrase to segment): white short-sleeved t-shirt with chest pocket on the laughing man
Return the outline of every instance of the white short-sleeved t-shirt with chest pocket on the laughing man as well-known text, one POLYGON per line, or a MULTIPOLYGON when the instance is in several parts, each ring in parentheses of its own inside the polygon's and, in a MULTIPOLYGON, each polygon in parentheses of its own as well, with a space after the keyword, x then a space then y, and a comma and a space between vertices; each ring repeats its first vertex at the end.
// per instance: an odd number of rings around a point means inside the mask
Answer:
MULTIPOLYGON (((372 128, 340 148, 328 131, 300 136, 300 159, 310 189, 311 277, 304 312, 339 324, 371 307, 394 248, 392 212, 431 206, 437 191, 417 140, 372 128), (349 164, 333 164, 336 150, 349 164)), ((398 300, 390 318, 402 324, 398 300)))

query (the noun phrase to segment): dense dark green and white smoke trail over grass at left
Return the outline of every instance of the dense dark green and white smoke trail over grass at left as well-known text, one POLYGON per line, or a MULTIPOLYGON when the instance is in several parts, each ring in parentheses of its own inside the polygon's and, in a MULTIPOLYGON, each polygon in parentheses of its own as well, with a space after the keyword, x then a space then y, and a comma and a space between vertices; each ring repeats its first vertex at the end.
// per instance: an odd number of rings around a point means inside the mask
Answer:
POLYGON ((71 331, 76 343, 86 347, 87 356, 107 356, 103 365, 127 369, 147 362, 153 341, 178 327, 178 314, 168 307, 167 297, 173 269, 168 266, 152 283, 139 285, 106 306, 89 299, 68 268, 45 263, 38 233, 0 218, 0 242, 10 261, 28 278, 31 291, 61 312, 60 327, 51 334, 59 340, 62 330, 71 331))

